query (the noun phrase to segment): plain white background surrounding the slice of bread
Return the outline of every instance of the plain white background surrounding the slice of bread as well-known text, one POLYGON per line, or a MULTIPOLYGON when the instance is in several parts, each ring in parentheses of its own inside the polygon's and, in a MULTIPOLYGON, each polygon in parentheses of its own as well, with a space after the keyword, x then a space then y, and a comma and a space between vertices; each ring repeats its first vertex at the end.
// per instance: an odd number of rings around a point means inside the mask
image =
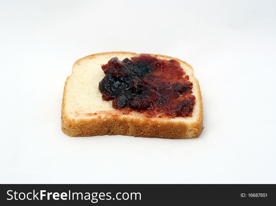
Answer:
POLYGON ((276 183, 275 1, 1 1, 0 183, 276 183), (72 138, 64 82, 86 55, 194 68, 198 138, 72 138))

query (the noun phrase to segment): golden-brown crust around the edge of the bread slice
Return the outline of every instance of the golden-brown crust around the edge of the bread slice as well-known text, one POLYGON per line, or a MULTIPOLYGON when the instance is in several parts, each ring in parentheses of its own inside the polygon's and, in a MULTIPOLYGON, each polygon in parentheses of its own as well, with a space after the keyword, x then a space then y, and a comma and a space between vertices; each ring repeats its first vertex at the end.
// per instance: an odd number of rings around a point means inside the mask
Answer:
MULTIPOLYGON (((83 57, 75 62, 79 64, 83 59, 94 58, 97 55, 110 54, 128 54, 128 55, 139 55, 131 52, 106 52, 98 53, 83 57)), ((179 62, 183 62, 191 71, 193 68, 188 65, 186 62, 179 59, 164 56, 164 55, 154 55, 157 58, 170 58, 179 62)), ((73 66, 73 69, 74 69, 73 66)), ((194 78, 193 84, 197 84, 197 98, 196 101, 199 103, 199 114, 196 121, 191 123, 182 123, 177 121, 163 121, 159 118, 139 118, 133 119, 128 118, 127 115, 101 115, 98 118, 86 118, 86 119, 70 119, 65 112, 65 98, 66 98, 66 85, 68 78, 65 82, 63 98, 62 98, 62 108, 61 108, 61 129, 62 131, 72 137, 77 136, 94 136, 94 135, 130 135, 130 136, 141 136, 141 137, 160 137, 160 138, 169 138, 169 139, 184 139, 192 138, 200 135, 203 129, 203 107, 202 107, 202 97, 200 92, 200 87, 198 80, 194 78)))

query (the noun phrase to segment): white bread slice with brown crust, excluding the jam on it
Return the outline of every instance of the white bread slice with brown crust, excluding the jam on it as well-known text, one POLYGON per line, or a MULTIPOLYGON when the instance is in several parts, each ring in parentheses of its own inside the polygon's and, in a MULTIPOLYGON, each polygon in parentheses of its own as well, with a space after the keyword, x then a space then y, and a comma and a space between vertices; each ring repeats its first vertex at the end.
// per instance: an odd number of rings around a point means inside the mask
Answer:
POLYGON ((131 135, 161 138, 192 138, 198 136, 203 127, 203 110, 199 83, 193 68, 186 62, 163 55, 152 55, 158 59, 174 59, 189 75, 193 83, 192 94, 195 105, 192 117, 148 118, 132 111, 123 114, 112 107, 112 101, 104 101, 99 91, 99 82, 105 74, 101 68, 111 58, 119 60, 138 56, 130 52, 108 52, 86 56, 75 62, 72 74, 64 86, 61 122, 62 131, 69 136, 131 135))

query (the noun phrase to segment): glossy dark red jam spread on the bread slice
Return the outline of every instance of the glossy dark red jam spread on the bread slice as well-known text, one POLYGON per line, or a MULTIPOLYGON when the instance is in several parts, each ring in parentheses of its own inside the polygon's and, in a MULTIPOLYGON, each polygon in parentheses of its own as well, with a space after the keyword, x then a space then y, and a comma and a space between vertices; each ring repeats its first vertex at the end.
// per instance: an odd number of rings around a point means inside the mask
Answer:
POLYGON ((114 57, 102 69, 105 77, 99 90, 103 100, 113 100, 114 108, 138 111, 147 117, 191 117, 193 83, 178 61, 150 55, 123 61, 114 57))

